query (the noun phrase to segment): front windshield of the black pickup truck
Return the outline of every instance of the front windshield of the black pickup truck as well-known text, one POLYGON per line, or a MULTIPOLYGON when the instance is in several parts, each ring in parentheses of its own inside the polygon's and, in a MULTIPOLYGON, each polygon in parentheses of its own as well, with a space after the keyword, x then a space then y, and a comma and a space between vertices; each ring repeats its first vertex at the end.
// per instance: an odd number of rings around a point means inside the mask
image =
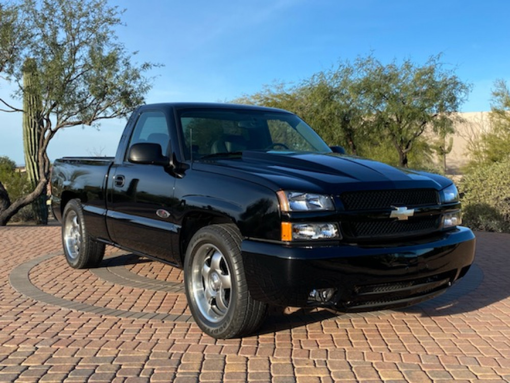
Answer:
POLYGON ((331 152, 312 128, 290 113, 194 109, 182 111, 179 118, 188 160, 245 150, 331 152))

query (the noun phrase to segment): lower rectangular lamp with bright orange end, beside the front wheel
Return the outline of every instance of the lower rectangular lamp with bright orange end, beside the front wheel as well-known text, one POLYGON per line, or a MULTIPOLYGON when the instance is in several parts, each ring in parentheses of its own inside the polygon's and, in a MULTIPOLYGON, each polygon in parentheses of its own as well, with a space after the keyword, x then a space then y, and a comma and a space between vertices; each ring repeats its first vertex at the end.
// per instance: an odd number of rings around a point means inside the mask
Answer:
POLYGON ((309 241, 341 239, 336 223, 282 222, 282 241, 309 241))

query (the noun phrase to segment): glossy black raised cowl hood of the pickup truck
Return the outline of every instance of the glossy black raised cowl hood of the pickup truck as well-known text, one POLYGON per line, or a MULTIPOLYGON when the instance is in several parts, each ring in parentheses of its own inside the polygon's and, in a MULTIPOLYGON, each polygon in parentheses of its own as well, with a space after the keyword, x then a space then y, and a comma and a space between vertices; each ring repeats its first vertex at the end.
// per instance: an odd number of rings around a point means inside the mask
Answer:
POLYGON ((336 153, 245 151, 242 156, 195 162, 196 170, 218 173, 270 187, 322 194, 350 190, 433 188, 451 184, 445 177, 336 153))

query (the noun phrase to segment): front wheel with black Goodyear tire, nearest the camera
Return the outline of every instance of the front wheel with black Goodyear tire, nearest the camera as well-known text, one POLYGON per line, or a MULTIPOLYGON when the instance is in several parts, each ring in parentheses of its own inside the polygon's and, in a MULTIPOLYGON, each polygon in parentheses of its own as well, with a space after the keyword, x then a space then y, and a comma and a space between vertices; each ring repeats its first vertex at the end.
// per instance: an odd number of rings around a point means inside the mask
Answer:
POLYGON ((198 230, 186 250, 184 283, 191 314, 216 339, 257 330, 267 313, 267 304, 248 291, 241 240, 235 225, 211 225, 198 230))

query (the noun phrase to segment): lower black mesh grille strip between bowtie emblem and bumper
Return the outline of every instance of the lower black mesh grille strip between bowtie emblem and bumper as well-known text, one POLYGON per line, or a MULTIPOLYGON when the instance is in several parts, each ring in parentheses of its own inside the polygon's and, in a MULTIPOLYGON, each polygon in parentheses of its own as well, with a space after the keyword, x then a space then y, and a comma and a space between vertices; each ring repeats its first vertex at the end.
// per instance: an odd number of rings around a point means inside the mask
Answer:
POLYGON ((349 239, 383 238, 395 235, 423 235, 439 228, 439 216, 428 216, 408 221, 363 221, 342 223, 344 236, 349 239))

